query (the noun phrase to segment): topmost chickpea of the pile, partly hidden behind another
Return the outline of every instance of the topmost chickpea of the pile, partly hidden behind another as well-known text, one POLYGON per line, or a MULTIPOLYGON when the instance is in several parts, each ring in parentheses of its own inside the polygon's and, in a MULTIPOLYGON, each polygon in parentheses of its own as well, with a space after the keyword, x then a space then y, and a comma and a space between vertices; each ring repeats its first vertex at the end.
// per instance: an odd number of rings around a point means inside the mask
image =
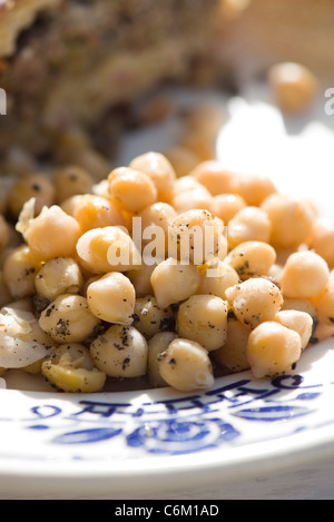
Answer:
POLYGON ((151 178, 157 189, 158 201, 170 200, 176 174, 166 156, 160 152, 143 154, 134 158, 129 167, 151 178))

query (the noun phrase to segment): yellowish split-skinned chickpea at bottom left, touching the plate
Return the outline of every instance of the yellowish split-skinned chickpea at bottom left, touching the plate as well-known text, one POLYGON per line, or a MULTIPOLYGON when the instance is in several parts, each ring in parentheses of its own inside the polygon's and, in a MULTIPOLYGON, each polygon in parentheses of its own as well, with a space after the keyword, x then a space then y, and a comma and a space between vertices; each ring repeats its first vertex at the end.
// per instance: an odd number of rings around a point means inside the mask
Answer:
POLYGON ((67 393, 102 391, 106 374, 92 364, 88 348, 80 344, 60 345, 41 365, 46 380, 67 393))

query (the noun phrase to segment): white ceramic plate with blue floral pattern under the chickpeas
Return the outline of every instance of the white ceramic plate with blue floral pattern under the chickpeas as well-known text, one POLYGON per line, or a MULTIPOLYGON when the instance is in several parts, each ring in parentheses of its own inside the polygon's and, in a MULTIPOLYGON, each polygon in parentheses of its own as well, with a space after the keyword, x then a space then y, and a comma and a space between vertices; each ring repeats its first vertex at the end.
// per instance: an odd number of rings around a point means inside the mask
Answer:
MULTIPOLYGON (((297 148, 285 141, 286 129, 269 106, 237 99, 230 111, 217 149, 226 165, 255 169, 262 154, 261 165, 275 167, 272 175, 278 174, 283 190, 296 190, 298 171, 305 180, 298 194, 308 187, 328 203, 322 186, 333 168, 327 125, 314 124, 312 139, 310 129, 298 134, 297 148), (253 135, 246 131, 249 122, 253 135), (322 138, 321 150, 310 148, 314 136, 322 138), (317 169, 314 183, 311 167, 320 160, 323 177, 317 169)), ((149 138, 132 136, 125 155, 134 156, 138 140, 140 152, 157 149, 153 136, 144 146, 149 138)), ((1 496, 177 498, 324 462, 334 446, 333 347, 332 339, 308 347, 291 375, 272 382, 245 372, 190 395, 170 388, 91 395, 0 390, 1 496)))

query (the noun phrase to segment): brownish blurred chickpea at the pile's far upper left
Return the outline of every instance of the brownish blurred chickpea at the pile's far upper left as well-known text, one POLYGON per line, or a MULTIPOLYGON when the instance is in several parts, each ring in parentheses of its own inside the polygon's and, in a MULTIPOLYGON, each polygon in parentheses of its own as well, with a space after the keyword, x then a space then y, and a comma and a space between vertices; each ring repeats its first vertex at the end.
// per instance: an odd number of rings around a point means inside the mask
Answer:
POLYGON ((8 196, 9 211, 18 217, 28 199, 36 199, 36 213, 39 214, 43 206, 55 204, 56 188, 48 174, 26 174, 13 184, 8 196))

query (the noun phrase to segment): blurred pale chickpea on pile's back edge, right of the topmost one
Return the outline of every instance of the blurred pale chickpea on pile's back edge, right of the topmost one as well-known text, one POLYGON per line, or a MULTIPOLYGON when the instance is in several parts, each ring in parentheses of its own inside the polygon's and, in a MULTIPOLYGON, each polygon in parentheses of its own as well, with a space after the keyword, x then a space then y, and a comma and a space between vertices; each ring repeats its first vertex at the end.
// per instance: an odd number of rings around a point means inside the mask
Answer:
POLYGON ((199 162, 191 171, 196 181, 203 185, 213 196, 234 194, 238 174, 227 170, 216 159, 199 162))

